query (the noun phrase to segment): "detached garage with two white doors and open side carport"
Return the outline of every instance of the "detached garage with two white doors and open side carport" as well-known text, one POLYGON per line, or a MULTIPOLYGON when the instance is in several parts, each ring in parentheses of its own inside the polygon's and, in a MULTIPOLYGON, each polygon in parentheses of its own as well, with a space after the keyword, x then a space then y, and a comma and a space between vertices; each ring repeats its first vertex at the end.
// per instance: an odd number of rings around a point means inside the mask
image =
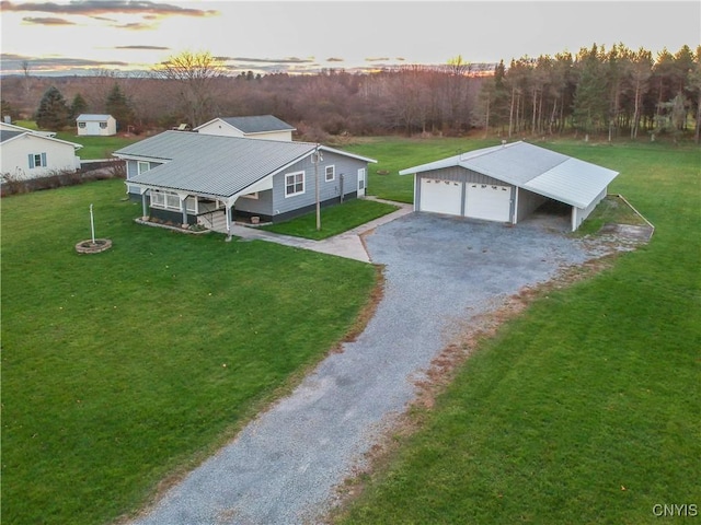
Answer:
POLYGON ((618 172, 527 142, 484 148, 421 166, 414 209, 516 224, 548 201, 571 207, 575 231, 618 172))

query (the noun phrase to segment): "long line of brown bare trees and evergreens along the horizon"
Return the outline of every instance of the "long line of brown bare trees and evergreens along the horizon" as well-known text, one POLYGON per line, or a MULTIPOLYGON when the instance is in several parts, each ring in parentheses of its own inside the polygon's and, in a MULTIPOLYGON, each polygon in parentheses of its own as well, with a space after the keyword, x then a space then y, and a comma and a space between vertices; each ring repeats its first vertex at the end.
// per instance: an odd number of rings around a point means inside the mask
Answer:
POLYGON ((143 74, 2 79, 2 113, 41 127, 108 113, 123 131, 195 127, 214 117, 273 114, 307 140, 334 135, 501 137, 581 133, 609 139, 693 135, 701 124, 701 46, 656 57, 623 44, 521 57, 489 69, 455 57, 441 66, 355 73, 232 75, 208 52, 170 57, 143 74), (38 100, 38 103, 37 103, 38 100), (67 101, 71 100, 69 104, 67 101))

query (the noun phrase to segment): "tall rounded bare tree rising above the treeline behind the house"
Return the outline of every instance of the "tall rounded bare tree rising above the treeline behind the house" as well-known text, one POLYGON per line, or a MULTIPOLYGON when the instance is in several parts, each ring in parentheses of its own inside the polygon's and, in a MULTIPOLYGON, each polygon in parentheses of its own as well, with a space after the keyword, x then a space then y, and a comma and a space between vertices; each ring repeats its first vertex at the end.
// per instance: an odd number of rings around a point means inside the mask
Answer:
POLYGON ((157 79, 175 81, 181 109, 193 127, 211 116, 215 81, 223 75, 225 68, 209 51, 174 55, 157 65, 152 73, 157 79))

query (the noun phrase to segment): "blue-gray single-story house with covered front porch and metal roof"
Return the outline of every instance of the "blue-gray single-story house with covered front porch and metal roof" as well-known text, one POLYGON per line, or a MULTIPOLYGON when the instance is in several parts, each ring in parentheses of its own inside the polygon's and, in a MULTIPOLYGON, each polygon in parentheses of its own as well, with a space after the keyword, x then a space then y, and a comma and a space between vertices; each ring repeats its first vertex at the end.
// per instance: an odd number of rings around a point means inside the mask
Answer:
POLYGON ((141 199, 145 217, 209 228, 222 221, 227 232, 234 218, 279 222, 311 211, 317 188, 321 206, 361 197, 376 162, 308 142, 172 130, 114 155, 126 161, 127 192, 141 199))

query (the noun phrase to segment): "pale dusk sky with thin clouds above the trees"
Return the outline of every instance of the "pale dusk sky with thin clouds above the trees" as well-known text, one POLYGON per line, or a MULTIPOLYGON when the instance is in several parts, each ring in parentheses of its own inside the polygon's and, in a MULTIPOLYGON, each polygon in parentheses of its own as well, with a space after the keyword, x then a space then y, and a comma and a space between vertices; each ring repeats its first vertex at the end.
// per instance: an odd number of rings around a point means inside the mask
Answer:
POLYGON ((468 62, 622 43, 656 56, 701 44, 701 2, 0 2, 2 73, 148 70, 183 50, 232 71, 304 72, 468 62))

